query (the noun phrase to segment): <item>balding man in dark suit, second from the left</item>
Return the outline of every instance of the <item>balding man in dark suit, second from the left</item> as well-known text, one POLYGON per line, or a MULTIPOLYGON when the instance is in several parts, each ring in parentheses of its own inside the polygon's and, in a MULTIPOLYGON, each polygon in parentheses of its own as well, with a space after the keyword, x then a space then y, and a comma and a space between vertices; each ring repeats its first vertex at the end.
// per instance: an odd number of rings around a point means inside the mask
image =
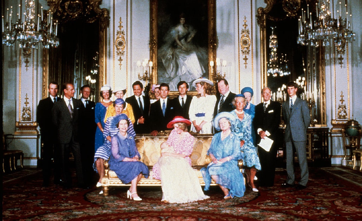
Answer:
POLYGON ((84 187, 83 168, 79 146, 79 113, 80 106, 83 105, 74 97, 74 86, 71 83, 63 84, 64 97, 54 103, 52 108, 52 121, 58 130, 60 174, 62 175, 62 184, 69 188, 72 184, 72 177, 69 168, 69 153, 73 152, 78 186, 84 187))

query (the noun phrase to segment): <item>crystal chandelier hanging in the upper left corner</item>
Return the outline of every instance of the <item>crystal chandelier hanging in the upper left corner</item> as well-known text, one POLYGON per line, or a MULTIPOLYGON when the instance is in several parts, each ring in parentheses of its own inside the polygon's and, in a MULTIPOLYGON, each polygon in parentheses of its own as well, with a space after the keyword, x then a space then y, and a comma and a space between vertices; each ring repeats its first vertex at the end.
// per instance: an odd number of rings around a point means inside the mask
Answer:
POLYGON ((23 14, 19 5, 17 16, 13 14, 13 6, 6 10, 5 18, 2 16, 3 45, 10 47, 18 40, 25 58, 26 70, 29 67, 31 50, 38 49, 38 43, 41 42, 45 48, 59 45, 59 39, 56 37, 58 21, 53 20, 50 11, 43 15, 43 7, 40 15, 36 15, 36 8, 35 0, 25 0, 23 14))

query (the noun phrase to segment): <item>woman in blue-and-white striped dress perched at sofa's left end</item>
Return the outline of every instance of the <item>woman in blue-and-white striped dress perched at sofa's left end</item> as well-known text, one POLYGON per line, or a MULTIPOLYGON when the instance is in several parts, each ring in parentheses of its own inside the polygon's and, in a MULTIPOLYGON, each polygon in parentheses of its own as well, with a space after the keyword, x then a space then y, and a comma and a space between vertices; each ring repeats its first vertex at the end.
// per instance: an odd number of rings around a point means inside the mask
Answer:
MULTIPOLYGON (((125 106, 125 101, 121 98, 118 98, 114 101, 113 105, 115 108, 115 116, 113 117, 109 117, 107 118, 105 127, 104 127, 104 132, 103 132, 103 137, 104 137, 104 144, 102 146, 100 146, 96 153, 94 154, 94 164, 96 166, 96 169, 98 171, 99 174, 99 180, 97 183, 97 187, 102 186, 102 178, 105 175, 105 170, 104 170, 104 161, 108 160, 110 155, 111 155, 111 137, 116 135, 117 132, 119 131, 119 129, 116 127, 116 124, 118 122, 115 122, 117 118, 117 116, 119 116, 120 114, 122 114, 122 111, 124 109, 125 106)), ((127 133, 130 134, 131 136, 136 136, 136 132, 133 129, 133 124, 130 121, 130 125, 128 127, 127 133)))

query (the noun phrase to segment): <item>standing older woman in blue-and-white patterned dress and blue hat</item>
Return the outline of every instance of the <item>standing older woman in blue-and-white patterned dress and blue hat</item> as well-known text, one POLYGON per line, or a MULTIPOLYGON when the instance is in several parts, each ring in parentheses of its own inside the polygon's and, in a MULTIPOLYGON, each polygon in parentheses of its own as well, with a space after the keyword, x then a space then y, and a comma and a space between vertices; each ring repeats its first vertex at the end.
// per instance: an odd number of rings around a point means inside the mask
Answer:
POLYGON ((236 120, 231 127, 231 131, 235 133, 240 140, 241 151, 244 153, 243 162, 247 174, 247 183, 254 192, 258 192, 259 190, 254 185, 254 177, 257 170, 261 170, 261 166, 251 135, 251 116, 244 111, 247 100, 243 94, 237 94, 232 100, 232 104, 236 109, 232 110, 230 113, 236 120))

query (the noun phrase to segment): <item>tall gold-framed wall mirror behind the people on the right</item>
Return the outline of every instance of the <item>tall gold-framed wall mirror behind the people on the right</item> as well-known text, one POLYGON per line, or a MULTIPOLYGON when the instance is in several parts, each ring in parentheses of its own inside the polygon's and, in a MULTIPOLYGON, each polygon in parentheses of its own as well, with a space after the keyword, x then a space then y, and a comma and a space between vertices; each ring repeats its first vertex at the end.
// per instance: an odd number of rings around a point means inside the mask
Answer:
MULTIPOLYGON (((261 37, 261 86, 270 87, 272 99, 282 103, 288 99, 286 84, 295 81, 299 85, 298 96, 310 107, 311 125, 325 125, 323 47, 298 44, 298 19, 307 3, 265 2, 266 7, 259 8, 257 15, 261 37)), ((309 4, 315 5, 312 1, 309 4)))

